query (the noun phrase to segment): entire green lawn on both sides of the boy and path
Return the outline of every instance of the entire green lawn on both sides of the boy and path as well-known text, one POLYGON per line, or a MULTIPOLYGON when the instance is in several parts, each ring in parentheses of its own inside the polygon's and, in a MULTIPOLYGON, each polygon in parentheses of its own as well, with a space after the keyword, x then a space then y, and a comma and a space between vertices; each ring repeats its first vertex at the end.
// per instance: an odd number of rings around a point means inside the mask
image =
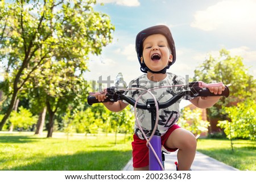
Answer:
MULTIPOLYGON (((34 133, 0 132, 0 170, 122 170, 131 158, 131 141, 113 134, 87 136, 53 133, 52 138, 34 133)), ((256 170, 255 141, 235 140, 234 153, 227 139, 199 139, 197 150, 238 170, 256 170)))

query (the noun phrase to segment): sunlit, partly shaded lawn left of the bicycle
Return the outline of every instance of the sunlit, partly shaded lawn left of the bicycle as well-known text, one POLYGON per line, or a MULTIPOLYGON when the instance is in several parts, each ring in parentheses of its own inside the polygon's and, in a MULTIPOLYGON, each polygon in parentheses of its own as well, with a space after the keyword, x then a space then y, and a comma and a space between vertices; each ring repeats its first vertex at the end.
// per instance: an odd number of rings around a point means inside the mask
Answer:
MULTIPOLYGON (((46 136, 46 135, 45 135, 46 136)), ((113 135, 67 136, 53 138, 34 133, 0 133, 0 170, 122 170, 131 159, 131 141, 124 143, 113 135)))

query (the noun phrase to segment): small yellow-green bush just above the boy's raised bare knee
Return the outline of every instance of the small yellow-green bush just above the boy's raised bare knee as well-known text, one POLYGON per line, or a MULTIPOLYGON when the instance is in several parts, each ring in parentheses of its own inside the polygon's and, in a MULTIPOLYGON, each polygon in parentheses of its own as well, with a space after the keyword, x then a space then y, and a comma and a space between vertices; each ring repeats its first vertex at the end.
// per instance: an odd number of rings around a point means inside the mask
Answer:
POLYGON ((191 110, 189 108, 184 108, 181 111, 179 125, 199 137, 201 133, 208 132, 208 126, 210 124, 208 121, 202 119, 201 109, 196 108, 191 110))

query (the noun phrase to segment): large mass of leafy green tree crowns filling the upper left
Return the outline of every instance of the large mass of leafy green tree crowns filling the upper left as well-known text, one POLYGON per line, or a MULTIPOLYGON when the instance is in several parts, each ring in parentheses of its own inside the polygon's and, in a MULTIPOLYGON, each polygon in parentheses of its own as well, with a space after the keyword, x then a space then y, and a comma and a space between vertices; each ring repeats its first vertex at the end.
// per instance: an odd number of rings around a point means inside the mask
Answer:
POLYGON ((0 61, 6 73, 0 87, 11 101, 0 130, 17 96, 30 98, 38 112, 47 105, 50 127, 56 112, 85 100, 77 83, 85 81, 89 55, 99 55, 114 31, 109 16, 93 10, 95 3, 14 1, 1 8, 0 61))

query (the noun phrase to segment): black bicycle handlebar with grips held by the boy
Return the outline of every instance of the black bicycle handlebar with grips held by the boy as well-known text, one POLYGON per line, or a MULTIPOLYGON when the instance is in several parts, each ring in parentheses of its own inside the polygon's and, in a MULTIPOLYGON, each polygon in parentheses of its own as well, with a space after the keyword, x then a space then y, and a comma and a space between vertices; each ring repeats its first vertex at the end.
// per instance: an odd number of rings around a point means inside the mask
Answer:
MULTIPOLYGON (((216 87, 220 86, 222 83, 210 83, 210 84, 205 84, 204 82, 191 82, 188 84, 188 86, 183 86, 183 91, 178 92, 172 98, 169 100, 165 101, 164 103, 159 103, 159 109, 162 108, 167 108, 170 105, 174 104, 177 100, 182 98, 185 95, 192 96, 192 97, 197 97, 197 96, 225 96, 228 98, 229 96, 229 88, 228 86, 225 86, 225 90, 222 91, 221 94, 214 94, 209 91, 207 87, 216 87)), ((134 88, 136 90, 136 88, 134 88)), ((131 104, 134 106, 135 100, 131 99, 130 97, 124 95, 125 91, 119 90, 118 88, 115 87, 109 87, 106 88, 106 96, 107 98, 104 101, 98 101, 95 96, 89 95, 87 98, 87 102, 89 105, 92 105, 94 103, 103 103, 107 101, 118 101, 118 100, 125 100, 127 103, 131 104)), ((137 103, 137 108, 139 109, 148 109, 147 104, 141 104, 137 103)))

